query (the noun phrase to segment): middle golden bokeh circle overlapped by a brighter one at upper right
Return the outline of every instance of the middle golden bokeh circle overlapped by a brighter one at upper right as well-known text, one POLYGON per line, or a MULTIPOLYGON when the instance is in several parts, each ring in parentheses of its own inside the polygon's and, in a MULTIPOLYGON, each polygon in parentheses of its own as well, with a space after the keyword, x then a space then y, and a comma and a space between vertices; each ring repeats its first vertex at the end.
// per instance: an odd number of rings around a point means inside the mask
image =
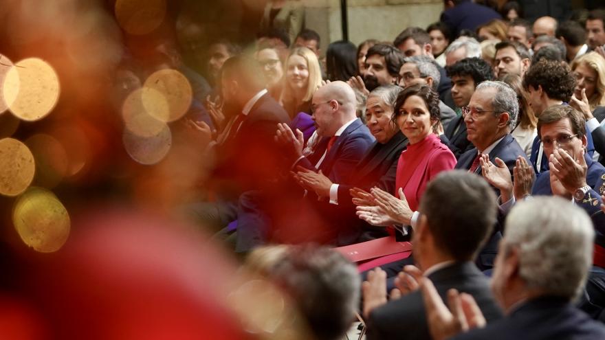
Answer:
MULTIPOLYGON (((155 90, 149 89, 149 91, 155 90)), ((153 137, 165 128, 166 123, 147 113, 143 106, 142 93, 143 89, 136 89, 126 97, 122 104, 122 119, 126 128, 135 135, 153 137)), ((153 100, 156 111, 164 111, 168 115, 168 102, 162 93, 155 93, 153 100)))

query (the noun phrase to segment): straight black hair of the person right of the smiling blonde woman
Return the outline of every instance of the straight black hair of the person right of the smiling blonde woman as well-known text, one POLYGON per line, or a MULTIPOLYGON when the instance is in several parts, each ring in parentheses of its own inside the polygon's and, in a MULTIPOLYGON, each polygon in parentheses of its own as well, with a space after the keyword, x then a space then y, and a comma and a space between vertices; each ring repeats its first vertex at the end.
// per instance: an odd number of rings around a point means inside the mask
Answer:
POLYGON ((335 41, 328 45, 326 68, 329 80, 346 82, 357 74, 357 47, 350 41, 335 41))

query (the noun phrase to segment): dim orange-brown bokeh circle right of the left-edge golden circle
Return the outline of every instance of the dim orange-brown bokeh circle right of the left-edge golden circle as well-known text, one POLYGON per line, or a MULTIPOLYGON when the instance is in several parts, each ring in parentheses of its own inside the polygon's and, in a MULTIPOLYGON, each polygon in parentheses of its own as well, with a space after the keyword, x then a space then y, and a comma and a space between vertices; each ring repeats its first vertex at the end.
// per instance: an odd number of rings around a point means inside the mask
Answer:
POLYGON ((25 141, 36 159, 36 185, 54 188, 67 174, 67 152, 56 138, 36 134, 25 141))

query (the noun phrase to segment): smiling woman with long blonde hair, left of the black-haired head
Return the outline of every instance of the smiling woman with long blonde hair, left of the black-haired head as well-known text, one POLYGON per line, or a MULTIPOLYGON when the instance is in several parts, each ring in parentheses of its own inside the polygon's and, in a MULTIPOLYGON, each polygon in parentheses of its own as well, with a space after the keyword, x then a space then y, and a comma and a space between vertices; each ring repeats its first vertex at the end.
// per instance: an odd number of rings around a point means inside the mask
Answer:
POLYGON ((301 112, 311 115, 311 98, 322 82, 316 54, 307 47, 296 47, 286 60, 285 72, 282 106, 290 117, 301 112))

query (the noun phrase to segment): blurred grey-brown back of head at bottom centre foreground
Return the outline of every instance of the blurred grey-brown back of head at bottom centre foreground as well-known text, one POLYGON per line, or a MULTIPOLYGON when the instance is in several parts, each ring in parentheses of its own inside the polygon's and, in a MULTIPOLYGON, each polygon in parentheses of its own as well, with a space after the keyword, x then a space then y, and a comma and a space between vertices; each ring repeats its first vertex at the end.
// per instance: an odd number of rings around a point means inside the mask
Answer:
POLYGON ((328 247, 291 247, 271 276, 297 302, 316 339, 344 335, 360 297, 360 277, 349 260, 328 247))

